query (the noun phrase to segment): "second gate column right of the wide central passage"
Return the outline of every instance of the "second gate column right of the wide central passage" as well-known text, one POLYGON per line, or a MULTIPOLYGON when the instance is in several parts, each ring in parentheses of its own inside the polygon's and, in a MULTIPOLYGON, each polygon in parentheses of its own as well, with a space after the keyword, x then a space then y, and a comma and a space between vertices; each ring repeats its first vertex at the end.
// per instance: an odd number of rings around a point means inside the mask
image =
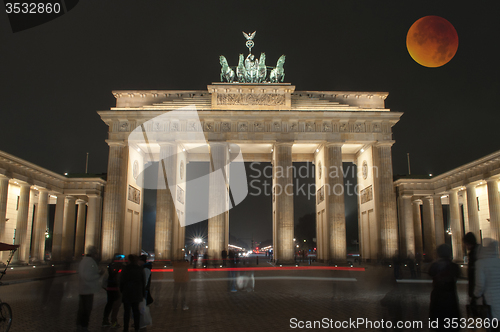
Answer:
POLYGON ((330 260, 334 262, 345 262, 347 259, 342 145, 342 143, 326 143, 324 146, 325 201, 330 231, 328 249, 330 260))

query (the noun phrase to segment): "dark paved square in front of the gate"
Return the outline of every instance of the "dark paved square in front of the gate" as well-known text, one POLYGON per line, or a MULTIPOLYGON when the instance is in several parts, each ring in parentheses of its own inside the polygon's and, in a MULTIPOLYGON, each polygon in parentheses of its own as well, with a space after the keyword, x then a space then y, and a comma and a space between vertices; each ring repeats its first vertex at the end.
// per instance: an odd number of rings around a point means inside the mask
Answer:
MULTIPOLYGON (((270 267, 261 262, 259 267, 270 267)), ((359 266, 355 266, 359 267, 359 266)), ((349 321, 363 318, 372 322, 422 321, 428 330, 431 284, 423 280, 396 282, 387 266, 362 264, 365 271, 265 270, 255 272, 253 292, 229 292, 228 272, 191 272, 189 310, 174 310, 171 272, 154 272, 151 305, 153 325, 141 331, 289 331, 303 321, 349 321), (295 320, 296 319, 296 320, 295 320), (326 320, 324 320, 326 319, 326 320)), ((404 271, 409 278, 409 272, 404 271)), ((8 272, 9 273, 9 272, 8 272)), ((29 276, 26 276, 29 277, 29 276)), ((11 331, 76 331, 78 307, 77 275, 58 273, 54 278, 10 278, 0 286, 0 298, 13 310, 11 331), (15 280, 18 283, 15 283, 15 280)), ((466 281, 458 285, 460 304, 465 311, 466 281)), ((96 294, 90 331, 121 331, 101 328, 106 292, 96 294)), ((123 312, 119 314, 123 324, 123 312)), ((335 323, 333 323, 335 324, 335 323)), ((345 323, 344 323, 345 324, 345 323)), ((366 325, 332 330, 384 330, 366 325)), ((303 330, 318 330, 304 328, 303 330)), ((387 330, 397 331, 392 328, 387 330)), ((133 329, 132 329, 133 331, 133 329)))

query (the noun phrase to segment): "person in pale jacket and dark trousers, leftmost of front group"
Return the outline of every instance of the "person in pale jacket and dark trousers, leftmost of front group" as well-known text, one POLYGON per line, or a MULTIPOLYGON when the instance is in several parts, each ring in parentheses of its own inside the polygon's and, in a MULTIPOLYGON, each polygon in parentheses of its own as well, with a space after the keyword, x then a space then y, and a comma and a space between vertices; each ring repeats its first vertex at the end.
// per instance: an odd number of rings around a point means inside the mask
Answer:
POLYGON ((104 271, 100 271, 96 262, 97 248, 89 246, 87 254, 82 258, 78 267, 78 315, 76 326, 78 331, 88 331, 90 313, 94 302, 94 294, 99 291, 101 285, 99 279, 104 271))

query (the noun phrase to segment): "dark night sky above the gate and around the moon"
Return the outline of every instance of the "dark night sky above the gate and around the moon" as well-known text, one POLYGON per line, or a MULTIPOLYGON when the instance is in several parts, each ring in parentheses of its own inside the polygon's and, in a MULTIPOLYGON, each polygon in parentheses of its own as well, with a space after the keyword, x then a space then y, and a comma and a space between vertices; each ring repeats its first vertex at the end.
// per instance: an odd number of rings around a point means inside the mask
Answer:
MULTIPOLYGON (((393 128, 394 174, 434 175, 499 149, 498 2, 80 1, 13 33, 0 14, 0 150, 64 173, 107 171, 112 90, 206 89, 218 56, 236 65, 241 31, 254 54, 286 54, 296 90, 386 91, 404 112, 393 128), (406 35, 419 18, 447 19, 459 38, 443 67, 417 64, 406 35)), ((270 203, 269 203, 270 204, 270 203)), ((311 212, 314 212, 311 211, 311 212)), ((265 239, 260 239, 265 240, 265 239)))

